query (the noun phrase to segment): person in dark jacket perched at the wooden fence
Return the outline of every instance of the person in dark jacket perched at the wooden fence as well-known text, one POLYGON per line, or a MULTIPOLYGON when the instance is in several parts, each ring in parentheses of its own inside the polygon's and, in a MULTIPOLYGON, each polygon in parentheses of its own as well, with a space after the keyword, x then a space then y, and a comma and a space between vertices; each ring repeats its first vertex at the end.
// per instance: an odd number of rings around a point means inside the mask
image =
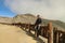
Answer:
POLYGON ((36 31, 36 38, 39 37, 39 31, 40 31, 40 24, 42 23, 41 18, 40 18, 40 15, 37 15, 37 20, 35 23, 35 31, 36 31))

